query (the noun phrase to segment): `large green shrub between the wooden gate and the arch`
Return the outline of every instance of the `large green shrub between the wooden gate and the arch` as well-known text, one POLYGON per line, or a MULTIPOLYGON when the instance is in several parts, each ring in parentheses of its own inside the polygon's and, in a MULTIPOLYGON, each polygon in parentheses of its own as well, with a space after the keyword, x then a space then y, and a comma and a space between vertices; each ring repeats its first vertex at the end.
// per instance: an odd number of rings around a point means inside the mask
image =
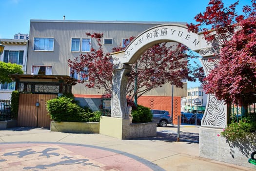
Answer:
POLYGON ((89 107, 80 107, 74 98, 65 96, 47 101, 46 109, 57 122, 99 122, 100 117, 89 107))

